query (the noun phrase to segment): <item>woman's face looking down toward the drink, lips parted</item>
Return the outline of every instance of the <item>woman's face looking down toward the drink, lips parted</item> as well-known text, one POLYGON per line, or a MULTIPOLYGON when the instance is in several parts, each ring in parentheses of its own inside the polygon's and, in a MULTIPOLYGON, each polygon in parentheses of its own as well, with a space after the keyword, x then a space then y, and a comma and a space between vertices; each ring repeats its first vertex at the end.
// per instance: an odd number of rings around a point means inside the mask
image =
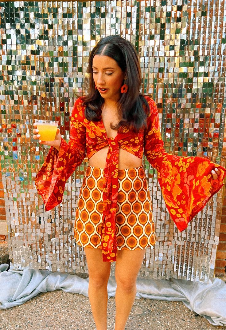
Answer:
POLYGON ((111 57, 95 55, 93 58, 93 79, 103 99, 118 101, 125 73, 111 57))

